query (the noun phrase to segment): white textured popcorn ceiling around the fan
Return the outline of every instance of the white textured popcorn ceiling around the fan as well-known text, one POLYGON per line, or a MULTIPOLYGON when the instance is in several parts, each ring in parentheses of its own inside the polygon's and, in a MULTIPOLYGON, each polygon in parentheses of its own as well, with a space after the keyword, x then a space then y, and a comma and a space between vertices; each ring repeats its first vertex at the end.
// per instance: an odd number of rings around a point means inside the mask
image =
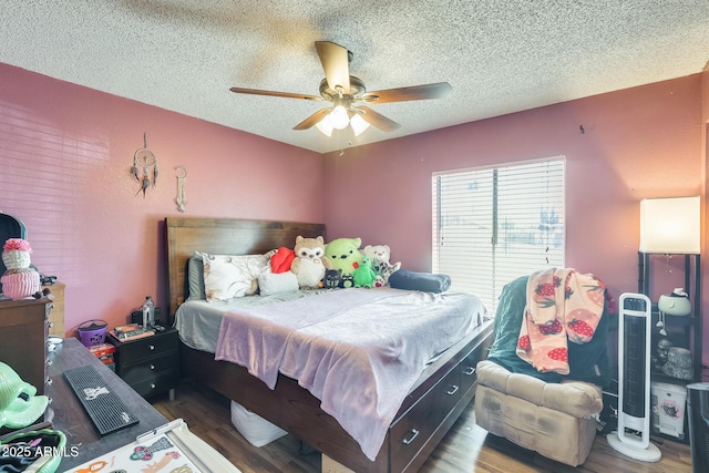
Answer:
POLYGON ((0 62, 295 146, 329 152, 700 72, 707 0, 0 0, 0 62), (315 41, 376 91, 446 81, 442 100, 376 105, 354 138, 292 127, 323 106, 315 41))

